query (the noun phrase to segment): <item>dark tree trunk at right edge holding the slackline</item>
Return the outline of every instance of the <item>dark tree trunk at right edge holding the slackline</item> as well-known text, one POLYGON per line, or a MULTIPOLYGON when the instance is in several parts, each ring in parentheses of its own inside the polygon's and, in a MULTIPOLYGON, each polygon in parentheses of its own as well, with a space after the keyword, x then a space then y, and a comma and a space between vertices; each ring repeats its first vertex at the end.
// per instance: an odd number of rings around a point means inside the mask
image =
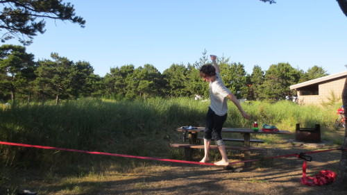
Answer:
MULTIPOLYGON (((347 108, 347 79, 345 80, 344 90, 342 91, 342 103, 344 103, 344 108, 347 108)), ((345 112, 346 117, 346 112, 345 112)), ((345 137, 344 137, 344 145, 342 146, 344 149, 347 149, 347 126, 345 127, 345 137)), ((341 151, 341 160, 339 162, 339 174, 337 180, 337 187, 340 189, 347 189, 347 151, 341 151)))

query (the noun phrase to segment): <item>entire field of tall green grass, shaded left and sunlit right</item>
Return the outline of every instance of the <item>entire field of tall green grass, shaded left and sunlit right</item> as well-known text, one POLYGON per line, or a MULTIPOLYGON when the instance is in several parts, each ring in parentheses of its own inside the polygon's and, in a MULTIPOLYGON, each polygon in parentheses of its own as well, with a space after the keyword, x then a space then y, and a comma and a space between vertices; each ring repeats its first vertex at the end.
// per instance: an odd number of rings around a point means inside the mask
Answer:
MULTIPOLYGON (((67 149, 167 157, 169 143, 182 142, 180 126, 205 126, 209 101, 188 98, 111 101, 78 99, 53 102, 17 103, 0 109, 0 140, 67 149)), ((253 121, 295 130, 295 124, 321 124, 331 131, 339 105, 320 108, 289 101, 242 103, 252 116, 243 119, 231 102, 225 127, 251 128, 253 121)), ((65 167, 69 164, 110 160, 95 155, 0 145, 0 161, 6 166, 65 167)))

